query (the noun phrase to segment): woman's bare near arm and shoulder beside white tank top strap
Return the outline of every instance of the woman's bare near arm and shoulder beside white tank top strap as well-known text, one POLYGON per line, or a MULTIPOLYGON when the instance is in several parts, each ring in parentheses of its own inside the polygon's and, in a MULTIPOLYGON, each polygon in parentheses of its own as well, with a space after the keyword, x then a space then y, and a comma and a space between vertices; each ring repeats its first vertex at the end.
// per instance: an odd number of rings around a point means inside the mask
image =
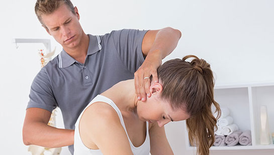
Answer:
POLYGON ((133 154, 117 112, 107 103, 97 102, 86 108, 79 132, 85 146, 99 148, 103 154, 133 154))

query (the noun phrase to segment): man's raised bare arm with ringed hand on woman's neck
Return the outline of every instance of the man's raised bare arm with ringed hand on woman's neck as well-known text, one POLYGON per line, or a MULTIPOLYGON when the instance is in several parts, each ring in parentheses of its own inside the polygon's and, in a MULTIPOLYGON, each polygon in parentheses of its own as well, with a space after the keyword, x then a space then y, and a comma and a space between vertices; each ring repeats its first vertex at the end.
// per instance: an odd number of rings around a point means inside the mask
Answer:
POLYGON ((162 59, 169 55, 177 46, 181 32, 172 28, 148 31, 142 42, 142 52, 145 56, 144 63, 134 73, 135 90, 138 100, 145 101, 150 97, 150 79, 144 79, 152 75, 158 82, 157 68, 162 64, 162 59))

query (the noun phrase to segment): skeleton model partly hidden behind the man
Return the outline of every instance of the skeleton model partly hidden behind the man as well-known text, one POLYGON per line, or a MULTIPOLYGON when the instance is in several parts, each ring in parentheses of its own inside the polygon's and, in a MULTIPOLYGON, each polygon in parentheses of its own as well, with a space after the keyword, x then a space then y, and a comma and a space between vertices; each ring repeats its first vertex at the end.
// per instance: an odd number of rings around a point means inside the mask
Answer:
MULTIPOLYGON (((54 55, 55 50, 56 50, 56 47, 52 52, 50 52, 46 55, 44 54, 43 50, 39 50, 38 54, 41 57, 41 59, 40 59, 41 68, 44 67, 49 62, 51 57, 54 55)), ((52 111, 49 122, 48 122, 48 125, 56 127, 55 116, 56 116, 56 109, 54 109, 52 111)), ((32 155, 49 155, 49 154, 58 155, 58 154, 60 154, 61 149, 62 149, 61 147, 59 147, 59 148, 46 148, 46 147, 42 147, 42 146, 38 146, 38 145, 30 145, 28 151, 30 151, 32 153, 32 155)))

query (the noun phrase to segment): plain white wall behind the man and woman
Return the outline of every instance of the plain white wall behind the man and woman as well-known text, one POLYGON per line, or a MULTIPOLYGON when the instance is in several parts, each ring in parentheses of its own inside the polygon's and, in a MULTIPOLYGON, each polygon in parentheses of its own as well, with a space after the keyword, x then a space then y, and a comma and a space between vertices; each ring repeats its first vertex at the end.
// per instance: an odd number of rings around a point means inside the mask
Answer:
MULTIPOLYGON (((58 45, 40 26, 35 0, 5 1, 0 10, 0 104, 2 112, 1 154, 28 154, 22 142, 22 126, 30 85, 40 70, 39 44, 18 44, 12 38, 47 38, 58 45)), ((80 23, 86 33, 102 35, 123 28, 161 29, 173 27, 182 38, 165 60, 188 54, 207 60, 216 75, 216 84, 269 81, 274 79, 274 1, 83 1, 78 7, 80 23)), ((165 61, 164 60, 164 61, 165 61)), ((58 116, 61 125, 60 112, 58 116)), ((186 150, 182 122, 166 126, 175 154, 194 154, 186 150)), ((273 132, 273 131, 272 131, 273 132)), ((273 150, 211 151, 211 154, 272 154, 273 150)), ((67 154, 67 149, 62 154, 67 154)))

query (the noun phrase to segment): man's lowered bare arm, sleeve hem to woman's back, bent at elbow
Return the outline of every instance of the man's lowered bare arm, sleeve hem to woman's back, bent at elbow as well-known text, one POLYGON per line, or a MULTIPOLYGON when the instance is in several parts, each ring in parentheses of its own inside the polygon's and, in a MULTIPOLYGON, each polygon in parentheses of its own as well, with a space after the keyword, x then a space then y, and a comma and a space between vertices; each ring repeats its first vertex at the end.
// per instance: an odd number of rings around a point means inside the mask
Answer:
POLYGON ((23 142, 44 147, 72 145, 74 130, 59 129, 48 125, 51 112, 41 108, 28 108, 23 125, 23 142))

